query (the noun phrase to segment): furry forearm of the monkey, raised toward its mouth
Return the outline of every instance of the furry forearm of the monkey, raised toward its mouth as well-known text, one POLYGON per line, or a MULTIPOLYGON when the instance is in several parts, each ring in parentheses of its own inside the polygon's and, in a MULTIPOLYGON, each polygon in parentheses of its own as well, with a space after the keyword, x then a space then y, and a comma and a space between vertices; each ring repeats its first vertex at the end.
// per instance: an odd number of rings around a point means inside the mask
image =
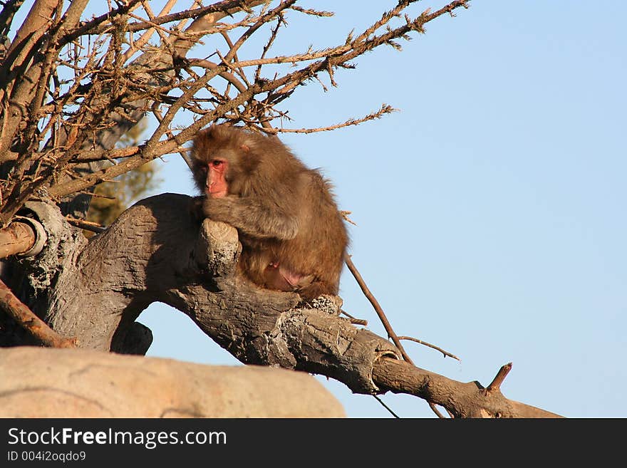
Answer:
POLYGON ((289 240, 299 232, 299 219, 291 210, 254 197, 207 197, 202 211, 214 221, 231 224, 248 236, 289 240))

